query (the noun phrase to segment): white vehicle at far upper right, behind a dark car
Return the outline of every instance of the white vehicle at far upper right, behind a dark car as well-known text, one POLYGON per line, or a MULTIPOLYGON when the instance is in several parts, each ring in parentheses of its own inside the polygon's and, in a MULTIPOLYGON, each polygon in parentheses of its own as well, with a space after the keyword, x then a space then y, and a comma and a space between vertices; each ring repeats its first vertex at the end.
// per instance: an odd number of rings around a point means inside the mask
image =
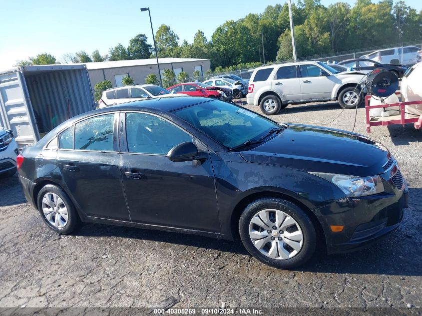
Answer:
POLYGON ((421 61, 421 48, 416 46, 394 47, 376 50, 361 58, 372 59, 382 63, 402 63, 404 65, 414 65, 421 61))

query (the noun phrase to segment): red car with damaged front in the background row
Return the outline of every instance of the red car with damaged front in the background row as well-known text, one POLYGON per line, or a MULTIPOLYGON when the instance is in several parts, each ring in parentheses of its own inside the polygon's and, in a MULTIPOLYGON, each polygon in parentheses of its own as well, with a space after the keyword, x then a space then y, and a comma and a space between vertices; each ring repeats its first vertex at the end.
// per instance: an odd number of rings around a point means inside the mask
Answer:
POLYGON ((229 102, 233 99, 233 92, 231 89, 214 87, 202 82, 179 83, 169 87, 167 90, 171 93, 183 93, 191 96, 218 98, 229 102))

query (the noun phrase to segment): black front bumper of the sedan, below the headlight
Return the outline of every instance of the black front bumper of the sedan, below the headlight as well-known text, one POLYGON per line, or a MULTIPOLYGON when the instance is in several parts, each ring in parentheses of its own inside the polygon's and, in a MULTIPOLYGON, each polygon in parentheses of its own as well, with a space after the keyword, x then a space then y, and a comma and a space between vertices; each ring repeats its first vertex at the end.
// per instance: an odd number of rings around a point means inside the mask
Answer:
POLYGON ((322 219, 327 252, 345 253, 367 248, 399 227, 408 207, 408 186, 361 198, 345 198, 317 210, 322 219), (332 232, 331 225, 343 225, 332 232))

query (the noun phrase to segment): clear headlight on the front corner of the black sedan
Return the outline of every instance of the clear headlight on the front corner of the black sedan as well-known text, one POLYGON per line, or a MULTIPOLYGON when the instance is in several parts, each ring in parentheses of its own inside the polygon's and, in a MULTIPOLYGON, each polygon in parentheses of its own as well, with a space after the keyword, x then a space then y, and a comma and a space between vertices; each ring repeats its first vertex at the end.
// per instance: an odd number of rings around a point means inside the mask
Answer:
POLYGON ((355 177, 333 175, 328 173, 313 173, 338 186, 347 197, 360 197, 384 192, 384 185, 379 175, 372 177, 355 177))

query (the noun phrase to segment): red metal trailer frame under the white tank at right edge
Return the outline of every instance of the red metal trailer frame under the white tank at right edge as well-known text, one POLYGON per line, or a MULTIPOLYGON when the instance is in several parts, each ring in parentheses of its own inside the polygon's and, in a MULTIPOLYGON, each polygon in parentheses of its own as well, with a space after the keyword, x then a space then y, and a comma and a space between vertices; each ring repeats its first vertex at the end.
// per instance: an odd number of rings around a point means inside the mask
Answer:
MULTIPOLYGON (((400 99, 400 91, 396 91, 400 99)), ((380 105, 370 105, 371 95, 365 96, 365 111, 366 111, 366 121, 367 121, 367 132, 371 133, 371 126, 386 126, 392 124, 409 124, 414 123, 416 129, 420 129, 422 126, 422 115, 406 114, 405 107, 406 105, 415 105, 422 104, 422 101, 411 101, 411 102, 399 102, 391 104, 380 104, 380 105), (398 106, 400 108, 400 114, 391 115, 386 117, 370 117, 369 111, 375 108, 381 107, 392 107, 398 106)))

